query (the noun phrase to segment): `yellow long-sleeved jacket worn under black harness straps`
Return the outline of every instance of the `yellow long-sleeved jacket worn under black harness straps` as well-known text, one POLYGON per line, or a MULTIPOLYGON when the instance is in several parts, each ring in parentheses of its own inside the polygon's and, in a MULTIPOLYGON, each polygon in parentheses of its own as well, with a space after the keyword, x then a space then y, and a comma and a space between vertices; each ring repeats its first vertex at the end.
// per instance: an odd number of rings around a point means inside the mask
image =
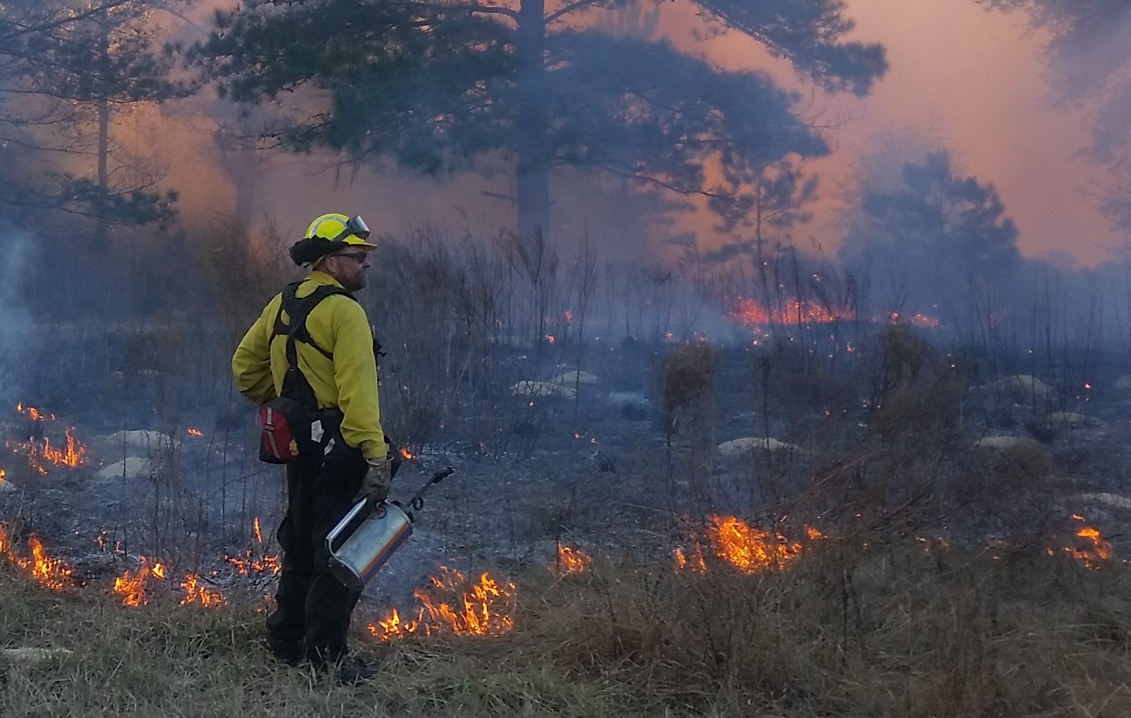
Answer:
MULTIPOLYGON (((342 287, 329 275, 314 270, 299 286, 296 296, 307 296, 321 284, 342 287)), ((282 302, 280 293, 267 303, 232 356, 235 386, 256 404, 273 399, 283 389, 286 336, 271 340, 282 302)), ((290 323, 286 312, 283 322, 290 323)), ((366 459, 383 457, 387 449, 377 393, 377 362, 365 310, 348 296, 330 295, 310 312, 307 330, 318 346, 334 355, 331 361, 314 347, 295 341, 299 369, 314 390, 318 407, 342 410, 342 438, 361 449, 366 459)))

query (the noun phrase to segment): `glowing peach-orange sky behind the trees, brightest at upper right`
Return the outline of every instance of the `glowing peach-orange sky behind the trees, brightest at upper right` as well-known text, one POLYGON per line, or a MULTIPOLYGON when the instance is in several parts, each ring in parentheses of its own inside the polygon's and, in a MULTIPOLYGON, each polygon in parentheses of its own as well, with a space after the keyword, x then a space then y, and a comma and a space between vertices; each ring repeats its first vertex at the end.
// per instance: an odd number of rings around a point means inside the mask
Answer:
MULTIPOLYGON (((886 45, 891 68, 864 100, 814 100, 819 121, 846 121, 826 133, 834 155, 810 167, 821 175, 822 200, 818 217, 794 232, 793 241, 835 249, 843 225, 837 198, 852 185, 857 158, 880 152, 884 137, 910 132, 949 149, 964 174, 996 187, 1025 254, 1067 253, 1087 266, 1104 260, 1121 242, 1088 196, 1096 168, 1076 157, 1088 141, 1087 118, 1082 111, 1048 106, 1044 37, 1027 29, 1024 15, 986 12, 973 0, 848 0, 848 15, 857 23, 854 38, 886 45)), ((693 45, 722 66, 766 67, 765 53, 748 38, 693 40, 701 35, 701 21, 683 0, 665 3, 661 27, 681 47, 693 45)), ((787 67, 771 71, 783 80, 792 78, 787 67)), ((195 168, 191 174, 188 167, 174 172, 174 182, 178 174, 198 178, 205 171, 201 157, 209 140, 202 130, 197 128, 195 140, 202 144, 176 148, 195 168)), ((349 182, 344 179, 349 171, 335 175, 325 167, 325 161, 303 155, 267 159, 260 214, 284 233, 301 232, 311 216, 339 207, 359 208, 371 225, 396 233, 422 226, 490 233, 513 218, 506 202, 482 194, 509 191, 504 176, 440 182, 363 170, 349 182)), ((187 207, 223 201, 215 181, 180 184, 187 207)), ((605 218, 589 220, 599 227, 605 218)), ((701 245, 710 248, 727 239, 714 236, 711 224, 710 217, 699 216, 681 222, 680 228, 696 231, 701 245)), ((625 233, 620 228, 616 234, 625 233)))

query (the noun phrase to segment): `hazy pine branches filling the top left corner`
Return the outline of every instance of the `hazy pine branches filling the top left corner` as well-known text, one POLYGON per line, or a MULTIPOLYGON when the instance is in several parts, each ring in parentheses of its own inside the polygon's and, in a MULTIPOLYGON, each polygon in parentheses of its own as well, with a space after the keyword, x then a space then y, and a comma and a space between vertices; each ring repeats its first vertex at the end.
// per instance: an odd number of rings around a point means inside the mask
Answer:
POLYGON ((173 193, 113 144, 110 115, 181 94, 141 0, 0 3, 0 202, 104 223, 172 215, 173 193), (84 167, 94 166, 94 172, 84 167))

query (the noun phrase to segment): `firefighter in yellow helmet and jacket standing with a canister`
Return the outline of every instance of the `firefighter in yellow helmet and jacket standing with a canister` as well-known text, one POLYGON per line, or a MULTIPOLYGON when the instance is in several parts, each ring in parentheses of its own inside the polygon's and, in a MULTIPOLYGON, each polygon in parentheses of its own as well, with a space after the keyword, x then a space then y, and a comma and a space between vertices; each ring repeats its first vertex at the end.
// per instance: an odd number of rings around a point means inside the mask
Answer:
MULTIPOLYGON (((347 658, 349 614, 361 591, 330 573, 325 539, 360 496, 374 505, 383 501, 392 474, 381 429, 373 335, 365 310, 348 294, 365 286, 370 252, 377 249, 368 239, 360 216, 326 214, 291 248, 291 259, 310 269, 294 297, 328 294, 316 299, 305 317, 303 337, 309 341, 294 341, 293 349, 308 396, 313 390, 326 452, 286 464, 287 510, 277 534, 283 571, 275 611, 267 618, 267 643, 277 658, 334 669, 340 683, 369 680, 373 671, 347 658)), ((236 388, 257 405, 283 396, 286 331, 292 329, 283 303, 284 293, 267 303, 232 357, 236 388)))

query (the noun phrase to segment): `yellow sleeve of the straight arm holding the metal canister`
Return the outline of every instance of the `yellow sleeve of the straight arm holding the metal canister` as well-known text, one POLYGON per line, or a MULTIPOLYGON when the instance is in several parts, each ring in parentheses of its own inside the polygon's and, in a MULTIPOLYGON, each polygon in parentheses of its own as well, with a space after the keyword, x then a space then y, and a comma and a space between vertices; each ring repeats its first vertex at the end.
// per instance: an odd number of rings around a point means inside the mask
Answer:
POLYGON ((388 450, 381 429, 373 334, 361 305, 352 300, 339 304, 342 311, 335 312, 334 320, 334 381, 343 414, 342 438, 361 449, 366 459, 377 459, 388 450))

